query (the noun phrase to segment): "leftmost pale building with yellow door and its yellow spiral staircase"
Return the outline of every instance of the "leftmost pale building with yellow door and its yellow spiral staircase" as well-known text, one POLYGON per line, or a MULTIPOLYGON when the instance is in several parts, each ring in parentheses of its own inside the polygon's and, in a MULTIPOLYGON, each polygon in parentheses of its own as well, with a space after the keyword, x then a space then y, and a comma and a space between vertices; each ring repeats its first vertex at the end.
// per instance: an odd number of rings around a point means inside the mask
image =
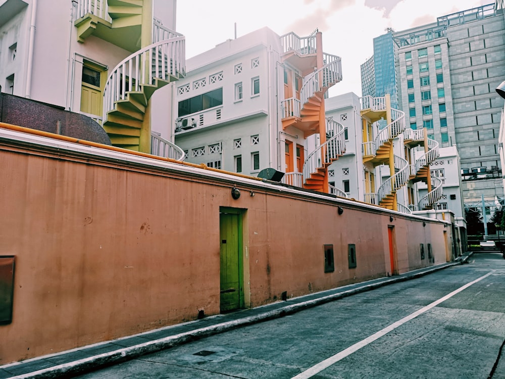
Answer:
POLYGON ((175 13, 176 0, 0 0, 2 91, 85 114, 113 145, 149 152, 151 124, 170 137, 170 83, 184 75, 175 13))

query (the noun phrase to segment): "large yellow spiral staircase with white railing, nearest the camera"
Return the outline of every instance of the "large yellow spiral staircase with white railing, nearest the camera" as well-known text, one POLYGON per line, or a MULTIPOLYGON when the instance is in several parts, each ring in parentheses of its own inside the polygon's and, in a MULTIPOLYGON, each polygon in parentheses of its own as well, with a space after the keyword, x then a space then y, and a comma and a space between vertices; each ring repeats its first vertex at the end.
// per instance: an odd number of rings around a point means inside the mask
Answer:
POLYGON ((153 18, 150 0, 78 0, 77 12, 80 42, 93 34, 133 52, 109 73, 102 125, 114 146, 149 153, 149 99, 184 77, 184 36, 153 18))

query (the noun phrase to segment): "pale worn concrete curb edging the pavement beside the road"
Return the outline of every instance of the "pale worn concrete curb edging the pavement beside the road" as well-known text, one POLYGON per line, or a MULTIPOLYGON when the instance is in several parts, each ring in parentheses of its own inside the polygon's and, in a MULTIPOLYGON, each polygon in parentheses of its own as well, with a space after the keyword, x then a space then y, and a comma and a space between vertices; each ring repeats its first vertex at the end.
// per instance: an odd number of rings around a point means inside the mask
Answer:
MULTIPOLYGON (((187 331, 185 333, 177 334, 174 336, 169 336, 165 338, 161 338, 158 340, 149 341, 143 344, 134 345, 122 349, 118 349, 112 352, 103 353, 99 355, 95 355, 92 357, 76 360, 74 362, 60 364, 53 367, 48 367, 44 369, 40 369, 37 371, 33 371, 30 373, 11 376, 11 379, 26 379, 26 378, 59 378, 65 377, 69 375, 77 375, 83 374, 85 372, 89 372, 101 367, 109 366, 112 364, 117 364, 121 362, 125 362, 131 359, 135 359, 142 355, 155 353, 161 350, 169 349, 171 347, 179 346, 191 341, 195 341, 201 338, 217 335, 219 333, 223 333, 224 331, 228 331, 231 329, 235 329, 241 326, 255 324, 261 321, 271 320, 274 318, 279 318, 288 314, 293 314, 299 312, 304 309, 312 308, 321 304, 329 303, 331 301, 335 301, 338 299, 342 299, 351 295, 356 295, 362 292, 371 291, 383 286, 387 286, 391 283, 406 281, 410 279, 415 279, 439 270, 442 270, 447 267, 457 266, 468 261, 468 258, 472 255, 470 253, 468 256, 458 257, 461 258, 457 262, 447 263, 443 265, 439 265, 437 267, 433 267, 432 269, 423 270, 420 272, 411 272, 406 273, 405 276, 393 276, 390 279, 382 280, 377 283, 371 283, 368 285, 364 285, 362 287, 358 287, 355 289, 339 292, 336 294, 331 294, 327 296, 322 296, 317 299, 312 299, 308 301, 302 301, 299 303, 292 303, 286 305, 282 308, 265 311, 263 313, 254 315, 254 316, 246 316, 243 318, 239 318, 232 321, 226 321, 217 323, 215 325, 197 328, 191 331, 187 331)), ((292 302, 293 300, 303 298, 303 296, 299 298, 289 299, 285 301, 285 303, 292 302)), ((1 368, 2 366, 0 366, 1 368)))

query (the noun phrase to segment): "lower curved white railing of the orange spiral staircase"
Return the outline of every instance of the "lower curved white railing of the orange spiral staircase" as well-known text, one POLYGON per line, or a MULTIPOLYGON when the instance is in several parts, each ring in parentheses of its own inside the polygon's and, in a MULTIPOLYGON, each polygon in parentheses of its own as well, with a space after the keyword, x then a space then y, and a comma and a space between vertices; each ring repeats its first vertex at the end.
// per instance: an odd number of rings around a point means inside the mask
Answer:
POLYGON ((304 180, 307 180, 318 167, 325 167, 345 152, 344 127, 339 122, 326 119, 326 133, 331 137, 316 150, 314 150, 304 162, 304 180), (323 162, 321 161, 323 159, 323 162))

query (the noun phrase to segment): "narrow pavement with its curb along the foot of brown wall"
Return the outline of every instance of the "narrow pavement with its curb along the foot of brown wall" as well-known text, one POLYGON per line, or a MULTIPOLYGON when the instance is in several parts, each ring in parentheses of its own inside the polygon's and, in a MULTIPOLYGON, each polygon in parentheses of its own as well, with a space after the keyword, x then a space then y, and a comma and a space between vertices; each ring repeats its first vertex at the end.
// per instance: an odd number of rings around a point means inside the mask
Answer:
POLYGON ((240 326, 282 317, 394 282, 414 279, 434 271, 465 263, 471 255, 472 252, 469 252, 467 255, 457 258, 455 262, 426 267, 392 277, 369 280, 257 308, 209 316, 200 320, 167 326, 113 341, 101 342, 57 354, 9 363, 0 366, 0 379, 56 378, 81 374, 99 367, 134 359, 145 354, 168 349, 240 326))

